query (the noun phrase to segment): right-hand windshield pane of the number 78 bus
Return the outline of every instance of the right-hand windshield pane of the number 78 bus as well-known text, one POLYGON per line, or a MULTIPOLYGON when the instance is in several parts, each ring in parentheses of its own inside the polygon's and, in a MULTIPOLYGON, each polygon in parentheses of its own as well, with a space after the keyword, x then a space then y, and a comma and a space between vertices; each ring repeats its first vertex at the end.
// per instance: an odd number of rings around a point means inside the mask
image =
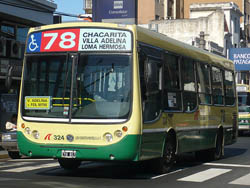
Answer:
POLYGON ((81 56, 74 79, 72 118, 127 118, 131 96, 129 56, 81 56))

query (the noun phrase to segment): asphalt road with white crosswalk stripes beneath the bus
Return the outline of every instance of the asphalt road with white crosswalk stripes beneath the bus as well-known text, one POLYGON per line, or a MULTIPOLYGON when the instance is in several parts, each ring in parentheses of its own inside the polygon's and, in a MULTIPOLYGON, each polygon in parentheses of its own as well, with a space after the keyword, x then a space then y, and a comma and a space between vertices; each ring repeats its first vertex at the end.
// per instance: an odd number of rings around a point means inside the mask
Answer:
POLYGON ((250 186, 250 136, 225 148, 225 157, 200 163, 193 154, 178 158, 167 174, 151 174, 141 165, 84 162, 76 171, 65 171, 53 159, 0 161, 3 188, 245 188, 250 186))

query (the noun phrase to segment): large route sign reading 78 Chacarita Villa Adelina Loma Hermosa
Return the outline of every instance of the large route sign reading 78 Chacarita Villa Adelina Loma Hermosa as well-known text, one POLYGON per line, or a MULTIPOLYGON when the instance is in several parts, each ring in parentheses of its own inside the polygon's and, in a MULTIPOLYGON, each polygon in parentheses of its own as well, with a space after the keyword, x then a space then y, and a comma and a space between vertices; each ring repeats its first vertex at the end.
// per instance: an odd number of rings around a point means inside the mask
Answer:
POLYGON ((27 53, 131 50, 131 32, 114 29, 49 30, 30 34, 27 43, 27 53))

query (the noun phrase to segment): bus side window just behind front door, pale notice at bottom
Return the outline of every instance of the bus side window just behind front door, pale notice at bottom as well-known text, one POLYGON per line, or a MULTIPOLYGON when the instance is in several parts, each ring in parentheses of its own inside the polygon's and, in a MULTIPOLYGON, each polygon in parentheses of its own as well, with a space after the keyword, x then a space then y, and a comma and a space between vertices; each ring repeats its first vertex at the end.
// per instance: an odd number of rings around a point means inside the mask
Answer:
POLYGON ((163 65, 163 106, 165 110, 181 111, 180 67, 178 57, 166 53, 163 65))

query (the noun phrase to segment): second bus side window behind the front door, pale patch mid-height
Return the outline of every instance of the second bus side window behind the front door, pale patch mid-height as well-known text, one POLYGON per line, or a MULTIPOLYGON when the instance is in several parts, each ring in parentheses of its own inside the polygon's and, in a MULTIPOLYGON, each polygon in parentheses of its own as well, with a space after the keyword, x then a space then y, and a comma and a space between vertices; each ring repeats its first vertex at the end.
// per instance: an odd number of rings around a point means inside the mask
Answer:
POLYGON ((188 58, 183 58, 181 61, 183 105, 184 111, 189 112, 197 107, 195 64, 192 59, 188 58))

